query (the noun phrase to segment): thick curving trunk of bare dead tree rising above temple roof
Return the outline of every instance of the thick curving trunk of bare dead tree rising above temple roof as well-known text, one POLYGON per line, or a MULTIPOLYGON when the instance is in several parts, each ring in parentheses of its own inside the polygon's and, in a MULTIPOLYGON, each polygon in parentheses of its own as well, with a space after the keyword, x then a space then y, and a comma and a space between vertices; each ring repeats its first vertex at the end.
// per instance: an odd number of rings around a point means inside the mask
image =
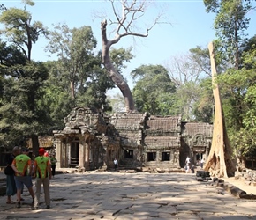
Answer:
POLYGON ((109 73, 109 77, 111 77, 114 84, 120 89, 124 96, 124 103, 126 112, 134 112, 134 102, 132 98, 132 92, 129 88, 129 85, 124 81, 124 78, 121 74, 118 73, 117 69, 111 62, 109 57, 109 48, 112 44, 117 43, 120 40, 120 37, 117 36, 115 40, 108 40, 106 35, 106 28, 107 28, 107 20, 102 21, 102 64, 106 68, 109 73))

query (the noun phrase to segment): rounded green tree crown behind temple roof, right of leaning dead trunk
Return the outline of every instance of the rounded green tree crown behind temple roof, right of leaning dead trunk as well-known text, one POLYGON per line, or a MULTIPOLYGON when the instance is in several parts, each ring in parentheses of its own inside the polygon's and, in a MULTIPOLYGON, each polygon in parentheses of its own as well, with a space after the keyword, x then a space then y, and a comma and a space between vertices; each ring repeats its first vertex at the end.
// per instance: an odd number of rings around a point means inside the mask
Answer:
POLYGON ((172 114, 175 85, 170 80, 168 71, 161 65, 142 65, 132 71, 133 79, 139 78, 132 95, 139 112, 150 114, 172 114))

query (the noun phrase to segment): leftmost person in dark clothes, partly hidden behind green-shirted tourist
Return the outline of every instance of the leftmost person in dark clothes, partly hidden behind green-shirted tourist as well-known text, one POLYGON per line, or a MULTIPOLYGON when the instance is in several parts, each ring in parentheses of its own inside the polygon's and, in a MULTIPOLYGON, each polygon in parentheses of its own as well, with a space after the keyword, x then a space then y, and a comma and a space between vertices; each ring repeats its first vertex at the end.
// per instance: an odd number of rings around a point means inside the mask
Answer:
POLYGON ((12 149, 11 155, 7 158, 7 166, 6 169, 4 170, 4 174, 6 175, 6 195, 7 195, 7 201, 6 204, 15 204, 15 202, 11 201, 11 196, 16 194, 17 189, 16 189, 16 184, 14 180, 14 170, 11 167, 13 159, 20 154, 20 149, 19 147, 14 147, 12 149))

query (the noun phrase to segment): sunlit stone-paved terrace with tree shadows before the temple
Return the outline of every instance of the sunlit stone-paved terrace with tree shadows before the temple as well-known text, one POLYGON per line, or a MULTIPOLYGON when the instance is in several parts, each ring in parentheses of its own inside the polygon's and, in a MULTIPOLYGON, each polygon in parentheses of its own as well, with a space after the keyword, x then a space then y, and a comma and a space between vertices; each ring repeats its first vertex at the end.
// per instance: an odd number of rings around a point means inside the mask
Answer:
POLYGON ((26 191, 21 209, 0 197, 0 219, 256 219, 255 201, 196 181, 194 174, 66 173, 51 180, 50 191, 51 209, 43 209, 41 194, 42 209, 36 211, 26 191))

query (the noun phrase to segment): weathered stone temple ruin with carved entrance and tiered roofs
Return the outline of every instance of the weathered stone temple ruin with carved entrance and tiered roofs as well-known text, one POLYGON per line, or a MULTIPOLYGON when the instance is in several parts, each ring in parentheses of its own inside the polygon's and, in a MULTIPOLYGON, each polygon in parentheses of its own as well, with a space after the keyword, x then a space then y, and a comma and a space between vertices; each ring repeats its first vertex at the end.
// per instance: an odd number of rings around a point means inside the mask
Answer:
POLYGON ((196 164, 207 158, 213 125, 184 122, 180 116, 139 113, 105 115, 76 107, 55 130, 59 168, 80 171, 112 169, 117 158, 124 169, 168 169, 177 172, 190 156, 196 164))

